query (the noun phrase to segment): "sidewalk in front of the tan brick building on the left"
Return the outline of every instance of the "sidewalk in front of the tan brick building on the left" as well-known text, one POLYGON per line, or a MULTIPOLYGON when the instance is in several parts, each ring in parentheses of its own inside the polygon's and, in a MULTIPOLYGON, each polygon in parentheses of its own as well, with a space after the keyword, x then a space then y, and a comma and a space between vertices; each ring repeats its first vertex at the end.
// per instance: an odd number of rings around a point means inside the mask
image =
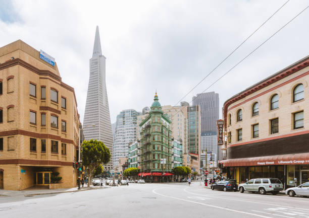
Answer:
POLYGON ((95 186, 95 187, 88 187, 84 186, 80 190, 78 190, 77 187, 74 188, 60 188, 60 189, 46 189, 45 187, 42 186, 33 186, 21 191, 11 191, 11 190, 0 190, 0 197, 32 197, 35 195, 44 195, 44 194, 60 194, 60 193, 67 193, 67 192, 77 192, 77 191, 86 191, 86 190, 91 190, 91 189, 104 189, 108 187, 100 187, 100 186, 95 186))

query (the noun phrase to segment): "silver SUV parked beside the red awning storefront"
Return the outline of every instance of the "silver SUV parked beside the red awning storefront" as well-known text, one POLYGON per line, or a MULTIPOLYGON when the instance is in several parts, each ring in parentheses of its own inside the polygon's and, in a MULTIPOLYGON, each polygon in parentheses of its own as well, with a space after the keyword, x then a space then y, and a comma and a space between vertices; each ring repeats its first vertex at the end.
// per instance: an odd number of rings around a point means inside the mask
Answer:
POLYGON ((250 191, 259 192, 260 194, 266 194, 267 192, 278 194, 279 191, 283 190, 283 185, 277 178, 257 178, 250 179, 246 183, 239 184, 238 190, 240 193, 250 191))

